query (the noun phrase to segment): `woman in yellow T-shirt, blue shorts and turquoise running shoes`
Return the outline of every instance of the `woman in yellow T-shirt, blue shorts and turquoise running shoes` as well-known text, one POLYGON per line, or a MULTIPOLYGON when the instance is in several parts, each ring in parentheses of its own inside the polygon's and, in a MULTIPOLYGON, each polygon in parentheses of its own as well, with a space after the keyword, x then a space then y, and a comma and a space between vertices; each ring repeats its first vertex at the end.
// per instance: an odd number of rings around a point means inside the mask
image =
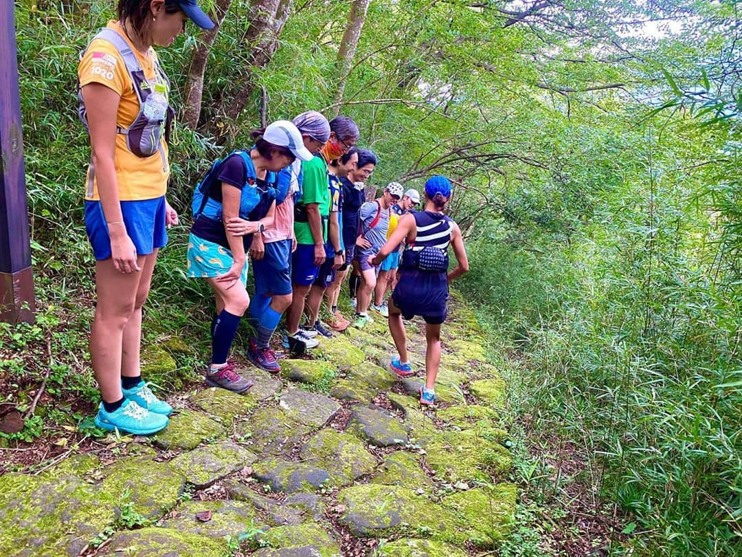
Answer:
POLYGON ((93 38, 80 60, 80 117, 91 138, 85 227, 96 258, 91 359, 103 429, 151 434, 172 408, 140 377, 142 304, 165 228, 178 224, 165 201, 170 84, 153 46, 168 46, 191 19, 214 24, 196 0, 119 0, 118 19, 93 38))

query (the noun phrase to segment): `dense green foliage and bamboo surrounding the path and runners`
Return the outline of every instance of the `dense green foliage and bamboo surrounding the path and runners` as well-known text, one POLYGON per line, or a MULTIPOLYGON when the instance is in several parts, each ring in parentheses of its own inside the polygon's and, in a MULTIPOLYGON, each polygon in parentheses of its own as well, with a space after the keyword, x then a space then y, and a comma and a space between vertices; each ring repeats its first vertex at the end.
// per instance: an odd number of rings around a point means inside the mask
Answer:
MULTIPOLYGON (((39 313, 36 325, 0 324, 0 385, 2 402, 24 411, 46 377, 53 403, 42 401, 11 440, 65 420, 100 434, 82 420, 98 395, 87 346, 94 261, 82 214, 90 152, 75 91, 79 51, 114 3, 31 4, 16 2, 16 39, 39 313)), ((145 342, 187 339, 190 351, 175 356, 180 369, 206 359, 211 319, 209 287, 185 278, 192 188, 211 160, 246 146, 259 121, 257 93, 238 121, 223 121, 225 91, 249 76, 266 90, 269 120, 309 108, 331 114, 348 9, 294 4, 260 69, 246 66, 248 1, 234 0, 217 35, 201 125, 178 126, 171 145, 168 198, 183 224, 160 253, 145 306, 145 342)), ((557 431, 584 447, 586 481, 626 514, 627 547, 616 551, 738 553, 737 8, 549 2, 516 21, 511 9, 372 2, 341 111, 378 154, 374 185, 419 187, 433 172, 455 180, 452 214, 472 264, 462 290, 482 305, 496 339, 511 411, 532 417, 534 434, 557 431), (643 20, 663 18, 683 33, 640 32, 643 20)), ((185 36, 160 49, 176 105, 196 45, 185 36)), ((563 488, 553 470, 522 457, 516 471, 551 509, 563 488)), ((545 551, 543 515, 520 504, 517 543, 503 555, 545 551)), ((122 521, 142 524, 125 507, 122 521)))

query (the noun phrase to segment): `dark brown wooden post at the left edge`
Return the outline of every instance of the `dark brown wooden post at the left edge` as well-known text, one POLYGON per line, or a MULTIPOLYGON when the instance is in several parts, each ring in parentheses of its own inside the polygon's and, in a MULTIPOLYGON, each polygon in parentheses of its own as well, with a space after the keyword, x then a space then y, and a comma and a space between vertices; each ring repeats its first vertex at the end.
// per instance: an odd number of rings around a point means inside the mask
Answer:
POLYGON ((0 321, 11 323, 35 310, 13 5, 0 0, 0 321))

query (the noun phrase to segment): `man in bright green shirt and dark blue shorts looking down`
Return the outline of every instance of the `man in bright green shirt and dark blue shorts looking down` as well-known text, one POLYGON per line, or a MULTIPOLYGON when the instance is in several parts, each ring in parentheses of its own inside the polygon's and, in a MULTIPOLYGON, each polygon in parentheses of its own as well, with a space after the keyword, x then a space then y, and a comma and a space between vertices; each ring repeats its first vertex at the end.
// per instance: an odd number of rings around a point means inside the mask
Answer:
MULTIPOLYGON (((337 116, 329 122, 329 139, 324 148, 309 162, 302 163, 301 199, 294 212, 296 250, 292 255, 292 287, 294 296, 286 313, 286 339, 289 348, 297 341, 306 344, 318 335, 315 322, 300 327, 306 295, 317 280, 320 266, 327 257, 325 244, 332 247, 333 266, 343 264, 343 250, 339 242, 337 212, 330 226, 331 198, 327 162, 347 153, 358 141, 358 126, 346 116, 337 116), (328 236, 329 232, 329 236, 328 236)), ((322 301, 320 293, 317 307, 322 301)), ((315 340, 315 343, 317 341, 315 340)))

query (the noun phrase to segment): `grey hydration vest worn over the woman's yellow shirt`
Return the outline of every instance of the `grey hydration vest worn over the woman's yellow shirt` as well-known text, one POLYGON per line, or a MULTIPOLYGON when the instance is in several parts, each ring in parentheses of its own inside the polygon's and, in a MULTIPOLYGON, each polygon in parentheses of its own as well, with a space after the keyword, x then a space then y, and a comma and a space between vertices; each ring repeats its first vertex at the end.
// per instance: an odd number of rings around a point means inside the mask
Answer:
MULTIPOLYGON (((137 155, 137 157, 151 157, 153 154, 160 152, 160 155, 162 156, 162 165, 163 167, 166 167, 167 160, 165 157, 165 149, 162 148, 160 139, 162 137, 165 137, 165 141, 170 139, 170 128, 175 112, 168 105, 167 114, 162 120, 152 120, 144 113, 145 101, 147 100, 147 97, 154 92, 155 85, 165 85, 165 87, 168 88, 168 91, 170 90, 170 80, 165 75, 165 72, 162 71, 160 61, 157 59, 157 56, 154 57, 155 81, 149 82, 148 79, 145 78, 144 71, 142 70, 142 66, 139 65, 137 56, 133 51, 131 51, 131 47, 128 45, 128 42, 126 42, 126 39, 124 39, 116 30, 113 30, 110 27, 103 27, 98 34, 93 37, 93 40, 95 39, 103 39, 104 41, 110 42, 111 45, 114 45, 116 51, 119 52, 119 55, 124 60, 128 74, 131 77, 131 85, 134 88, 134 93, 137 94, 137 99, 139 99, 139 114, 134 118, 134 122, 132 122, 128 128, 116 126, 116 133, 126 136, 126 146, 128 150, 137 155)), ((88 45, 88 48, 89 46, 90 45, 88 45)), ((87 50, 88 49, 86 48, 85 51, 87 50)), ((80 59, 85 55, 85 51, 80 53, 80 59)), ((79 86, 79 83, 77 85, 77 99, 79 100, 78 114, 80 120, 82 120, 82 124, 85 128, 88 128, 88 112, 85 110, 85 100, 82 97, 82 87, 79 86)), ((92 185, 92 163, 90 181, 92 185)))

